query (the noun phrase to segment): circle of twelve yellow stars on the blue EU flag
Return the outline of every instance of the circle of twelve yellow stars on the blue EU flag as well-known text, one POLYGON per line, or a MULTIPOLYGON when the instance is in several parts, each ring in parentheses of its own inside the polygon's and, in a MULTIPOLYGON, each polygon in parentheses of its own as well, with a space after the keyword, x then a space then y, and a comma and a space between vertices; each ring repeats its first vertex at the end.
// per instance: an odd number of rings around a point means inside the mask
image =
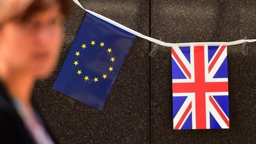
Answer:
MULTIPOLYGON (((91 46, 94 46, 94 45, 96 45, 96 42, 95 42, 95 41, 91 41, 90 44, 91 44, 91 46)), ((103 48, 103 47, 105 46, 105 43, 104 43, 104 42, 101 42, 101 44, 99 44, 99 45, 101 46, 101 48, 103 48)), ((82 49, 87 48, 86 44, 82 43, 81 48, 82 48, 82 49)), ((108 52, 108 53, 112 53, 112 48, 107 48, 107 52, 108 52)), ((76 55, 76 57, 80 56, 80 51, 76 51, 76 52, 75 52, 75 55, 76 55)), ((114 62, 115 60, 116 60, 115 57, 111 57, 111 59, 110 59, 111 62, 114 62)), ((78 63, 78 61, 74 61, 73 64, 74 64, 75 66, 77 66, 79 63, 78 63)), ((110 72, 114 71, 113 66, 110 66, 108 70, 109 70, 110 72)), ((78 74, 78 75, 82 75, 82 70, 78 70, 78 71, 77 71, 77 74, 78 74)), ((107 74, 103 74, 103 75, 102 75, 102 78, 105 80, 105 79, 107 78, 107 74)), ((89 78, 88 75, 85 75, 85 78, 83 78, 83 79, 84 79, 85 81, 90 80, 90 78, 89 78)), ((99 80, 98 80, 97 77, 94 77, 94 80, 93 80, 93 81, 94 81, 94 82, 98 82, 99 80)))

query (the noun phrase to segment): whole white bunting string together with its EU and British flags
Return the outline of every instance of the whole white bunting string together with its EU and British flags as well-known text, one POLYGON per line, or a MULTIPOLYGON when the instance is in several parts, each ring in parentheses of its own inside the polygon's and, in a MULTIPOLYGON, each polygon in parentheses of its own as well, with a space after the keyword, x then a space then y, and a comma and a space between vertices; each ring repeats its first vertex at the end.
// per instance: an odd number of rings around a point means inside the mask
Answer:
POLYGON ((53 89, 102 110, 137 36, 171 47, 174 129, 229 128, 227 46, 256 39, 166 43, 73 2, 87 13, 53 89))

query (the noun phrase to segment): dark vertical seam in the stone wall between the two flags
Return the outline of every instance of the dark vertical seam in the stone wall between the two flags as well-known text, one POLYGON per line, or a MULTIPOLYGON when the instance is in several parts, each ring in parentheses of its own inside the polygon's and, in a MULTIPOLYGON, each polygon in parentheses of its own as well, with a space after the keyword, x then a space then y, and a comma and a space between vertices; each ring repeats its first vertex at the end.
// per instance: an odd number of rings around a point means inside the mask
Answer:
MULTIPOLYGON (((149 0, 149 37, 151 37, 151 0, 149 0)), ((151 41, 149 41, 149 53, 151 52, 151 41)), ((149 56, 149 143, 152 144, 152 97, 151 97, 151 56, 149 56)))

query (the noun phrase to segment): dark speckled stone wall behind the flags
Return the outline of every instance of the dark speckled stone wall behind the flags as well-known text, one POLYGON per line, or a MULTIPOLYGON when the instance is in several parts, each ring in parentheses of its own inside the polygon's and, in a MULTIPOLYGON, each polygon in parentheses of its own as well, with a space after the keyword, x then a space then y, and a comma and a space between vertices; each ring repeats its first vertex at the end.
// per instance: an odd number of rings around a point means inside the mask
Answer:
MULTIPOLYGON (((80 0, 87 9, 167 42, 256 38, 254 0, 80 0), (151 21, 150 21, 151 18, 151 21), (240 32, 241 31, 241 32, 240 32), (240 34, 241 33, 241 34, 240 34)), ((228 47, 230 129, 173 130, 171 52, 136 38, 103 111, 52 89, 85 16, 71 2, 53 74, 35 85, 33 103, 62 144, 239 144, 256 141, 256 43, 228 47), (151 48, 159 48, 149 57, 151 48), (151 102, 151 103, 150 103, 151 102)))

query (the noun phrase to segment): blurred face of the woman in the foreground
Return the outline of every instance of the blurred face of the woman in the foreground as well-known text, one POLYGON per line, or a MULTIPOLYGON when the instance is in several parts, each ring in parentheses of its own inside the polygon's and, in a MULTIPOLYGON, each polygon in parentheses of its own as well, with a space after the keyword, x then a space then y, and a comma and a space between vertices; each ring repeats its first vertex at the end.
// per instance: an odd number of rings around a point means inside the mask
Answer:
POLYGON ((10 70, 43 78, 58 58, 63 36, 63 14, 57 5, 25 20, 0 26, 0 60, 10 70))

